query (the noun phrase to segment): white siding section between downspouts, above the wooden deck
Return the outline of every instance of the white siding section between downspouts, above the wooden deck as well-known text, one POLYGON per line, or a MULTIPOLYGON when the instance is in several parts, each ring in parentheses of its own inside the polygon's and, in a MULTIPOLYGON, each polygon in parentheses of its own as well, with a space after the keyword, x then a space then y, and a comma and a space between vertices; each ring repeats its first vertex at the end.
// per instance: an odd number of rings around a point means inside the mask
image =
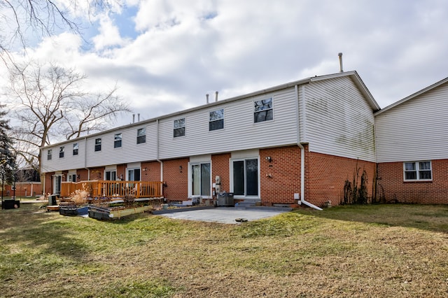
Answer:
POLYGON ((125 164, 144 162, 157 158, 157 126, 156 122, 146 122, 133 127, 116 129, 105 134, 97 134, 87 139, 86 167, 106 166, 109 164, 125 164), (146 128, 146 143, 137 144, 137 129, 146 128), (115 134, 122 134, 122 146, 113 148, 115 134), (102 150, 95 151, 95 139, 102 139, 102 150))

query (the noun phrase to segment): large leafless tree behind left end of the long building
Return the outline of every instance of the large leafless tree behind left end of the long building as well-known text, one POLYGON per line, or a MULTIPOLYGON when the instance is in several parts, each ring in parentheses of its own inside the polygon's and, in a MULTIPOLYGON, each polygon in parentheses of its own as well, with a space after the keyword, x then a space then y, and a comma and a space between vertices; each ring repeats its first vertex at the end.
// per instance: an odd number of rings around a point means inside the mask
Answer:
POLYGON ((40 166, 38 148, 102 131, 119 113, 130 112, 116 87, 106 93, 83 91, 86 78, 54 64, 29 64, 10 72, 5 97, 15 103, 14 115, 20 121, 15 130, 17 153, 27 164, 37 160, 40 166))

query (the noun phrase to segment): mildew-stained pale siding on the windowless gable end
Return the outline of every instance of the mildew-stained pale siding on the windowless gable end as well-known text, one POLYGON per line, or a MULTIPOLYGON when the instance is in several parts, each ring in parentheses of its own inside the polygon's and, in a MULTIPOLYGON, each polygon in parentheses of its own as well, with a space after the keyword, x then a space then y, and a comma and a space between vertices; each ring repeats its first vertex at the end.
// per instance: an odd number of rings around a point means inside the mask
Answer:
POLYGON ((351 78, 316 81, 304 93, 310 151, 375 161, 372 107, 351 78))

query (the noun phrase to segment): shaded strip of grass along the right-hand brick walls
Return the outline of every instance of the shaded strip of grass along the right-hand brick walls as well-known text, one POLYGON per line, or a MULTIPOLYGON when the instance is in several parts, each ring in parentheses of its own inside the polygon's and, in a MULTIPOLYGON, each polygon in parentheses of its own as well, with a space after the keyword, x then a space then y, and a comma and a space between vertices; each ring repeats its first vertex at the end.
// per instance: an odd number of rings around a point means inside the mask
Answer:
POLYGON ((411 227, 448 234, 448 206, 417 204, 344 205, 323 211, 301 209, 301 214, 318 218, 365 222, 389 227, 411 227))

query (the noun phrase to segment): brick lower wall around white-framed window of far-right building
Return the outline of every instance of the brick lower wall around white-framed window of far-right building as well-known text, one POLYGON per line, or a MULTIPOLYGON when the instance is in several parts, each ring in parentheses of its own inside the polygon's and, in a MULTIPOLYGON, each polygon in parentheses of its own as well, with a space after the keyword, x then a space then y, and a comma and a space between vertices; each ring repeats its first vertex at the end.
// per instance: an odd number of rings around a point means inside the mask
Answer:
POLYGON ((431 161, 433 180, 405 182, 402 162, 378 164, 378 192, 386 201, 419 204, 448 204, 448 159, 431 161))

